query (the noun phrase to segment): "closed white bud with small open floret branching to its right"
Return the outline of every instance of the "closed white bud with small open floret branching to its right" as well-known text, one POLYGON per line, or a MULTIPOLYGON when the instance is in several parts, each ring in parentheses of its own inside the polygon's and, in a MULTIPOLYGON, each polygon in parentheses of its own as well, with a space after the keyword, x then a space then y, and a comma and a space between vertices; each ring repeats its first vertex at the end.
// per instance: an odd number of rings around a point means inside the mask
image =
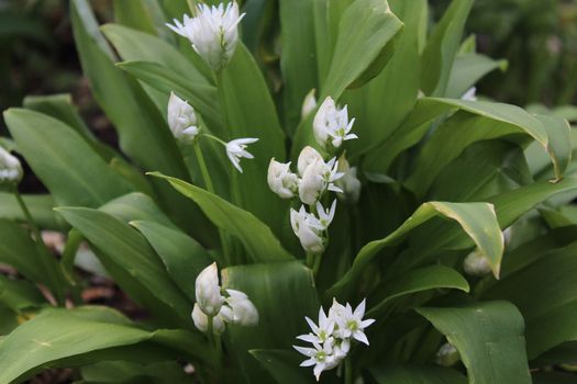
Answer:
MULTIPOLYGON (((193 143, 201 133, 200 122, 195 109, 189 105, 188 102, 177 97, 174 92, 170 93, 170 99, 168 100, 167 121, 173 136, 179 143, 193 143)), ((243 172, 243 169, 241 168, 241 158, 254 158, 253 155, 246 150, 247 145, 258 142, 258 138, 248 137, 236 138, 225 143, 212 135, 204 134, 203 136, 212 138, 222 144, 226 149, 226 156, 229 157, 229 160, 231 160, 231 163, 241 173, 243 172)))

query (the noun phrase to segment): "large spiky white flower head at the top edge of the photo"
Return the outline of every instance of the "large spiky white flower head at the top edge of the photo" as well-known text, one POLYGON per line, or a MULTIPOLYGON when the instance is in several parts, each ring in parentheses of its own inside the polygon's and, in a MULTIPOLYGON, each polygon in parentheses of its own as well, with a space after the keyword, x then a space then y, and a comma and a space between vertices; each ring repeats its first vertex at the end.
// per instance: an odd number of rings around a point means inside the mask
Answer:
POLYGON ((185 14, 182 23, 174 20, 174 25, 166 24, 170 30, 192 44, 192 48, 214 70, 222 70, 231 60, 238 43, 237 25, 244 18, 238 15, 238 4, 232 1, 224 8, 199 4, 195 18, 185 14))

